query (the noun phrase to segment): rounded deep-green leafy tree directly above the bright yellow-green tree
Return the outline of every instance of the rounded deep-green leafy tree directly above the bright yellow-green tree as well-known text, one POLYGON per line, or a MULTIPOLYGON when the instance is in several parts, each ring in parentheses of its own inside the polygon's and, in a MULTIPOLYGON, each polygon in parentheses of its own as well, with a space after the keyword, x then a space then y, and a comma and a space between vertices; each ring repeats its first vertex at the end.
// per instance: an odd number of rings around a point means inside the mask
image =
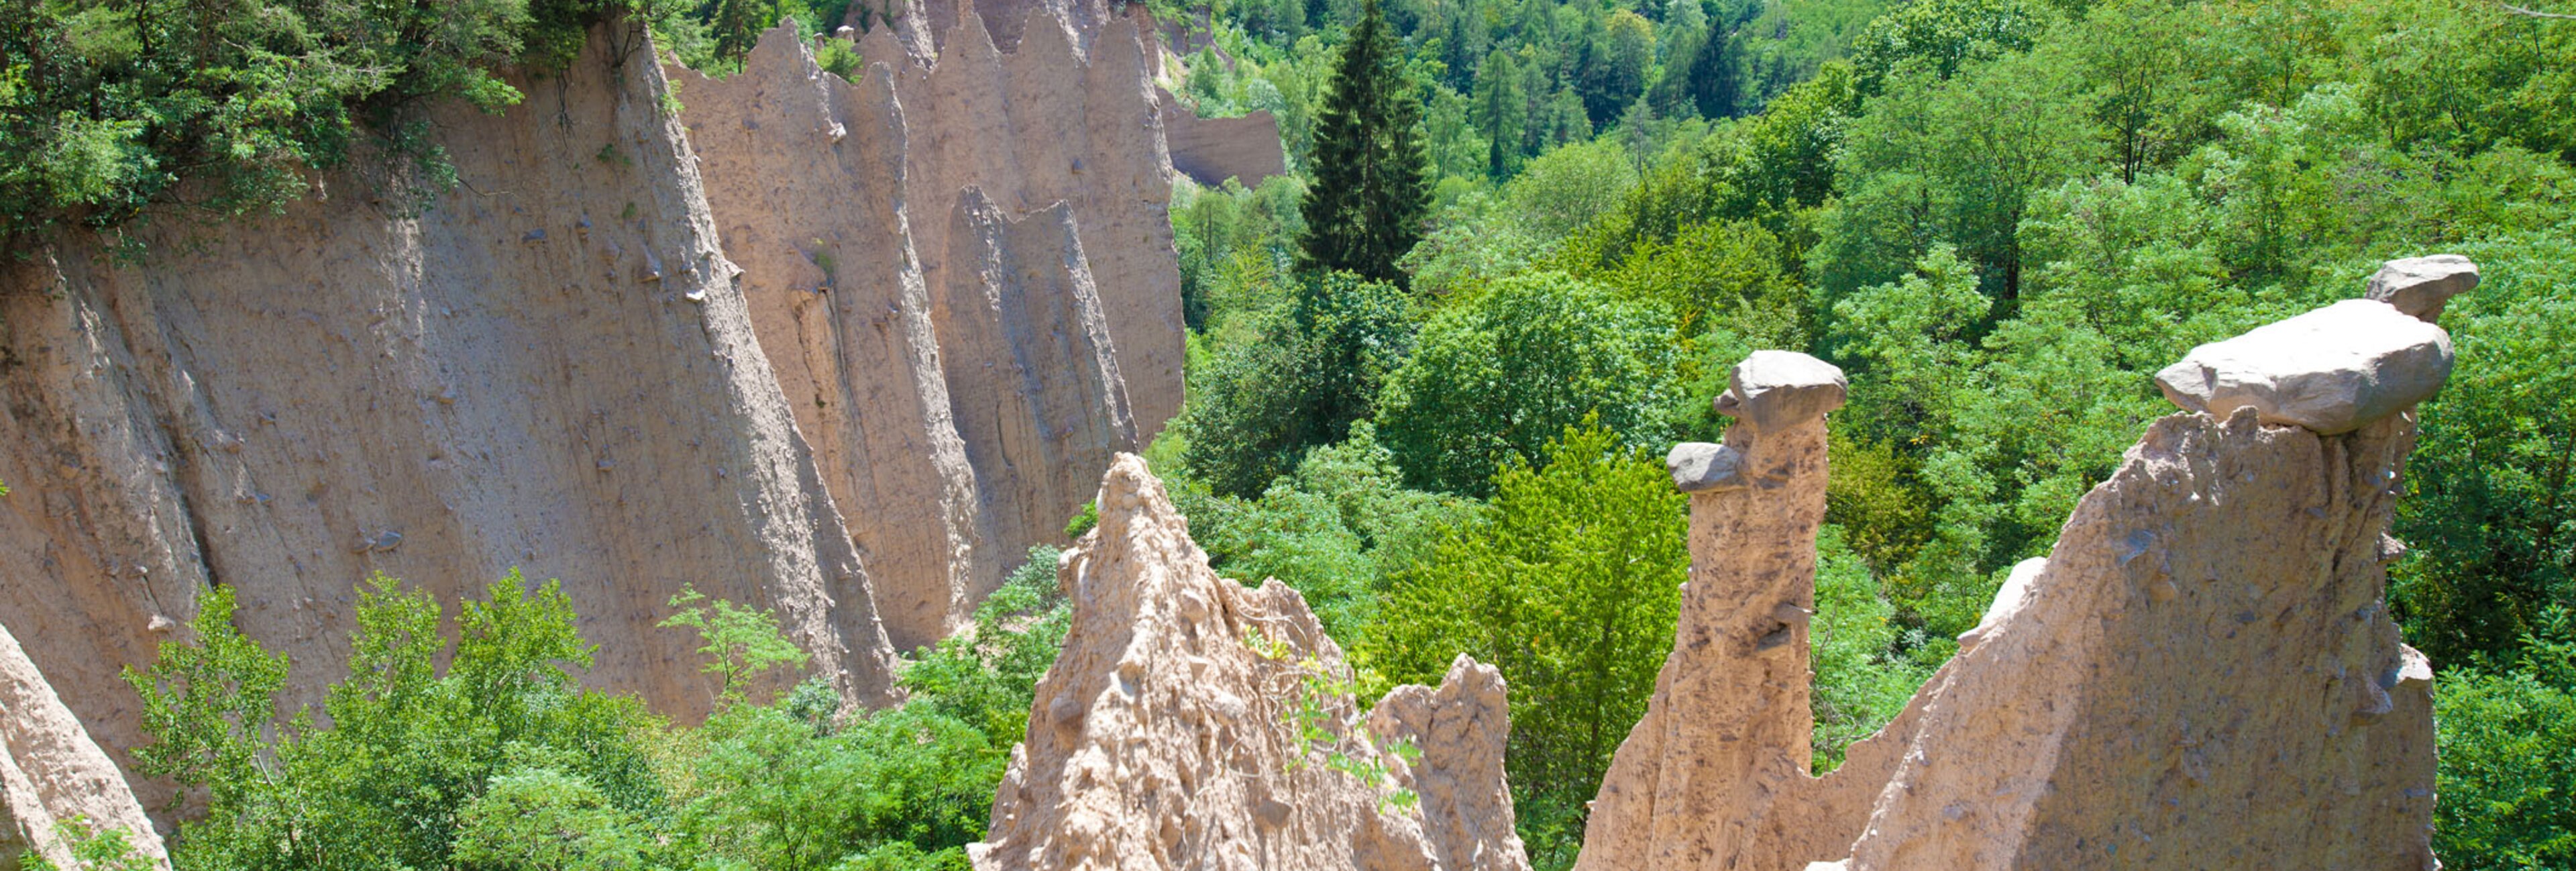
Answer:
POLYGON ((1435 314, 1378 397, 1378 441, 1419 490, 1489 492, 1589 415, 1636 443, 1685 410, 1669 317, 1564 273, 1494 283, 1435 314))

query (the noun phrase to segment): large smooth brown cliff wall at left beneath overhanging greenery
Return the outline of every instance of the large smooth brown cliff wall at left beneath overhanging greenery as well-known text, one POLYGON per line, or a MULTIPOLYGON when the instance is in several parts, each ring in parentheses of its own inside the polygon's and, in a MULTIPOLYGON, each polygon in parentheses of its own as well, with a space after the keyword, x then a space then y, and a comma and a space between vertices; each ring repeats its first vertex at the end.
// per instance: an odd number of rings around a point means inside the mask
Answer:
POLYGON ((562 577, 587 680, 657 711, 714 696, 696 639, 654 626, 683 582, 775 608, 848 698, 891 698, 641 28, 520 90, 438 111, 464 186, 417 216, 325 175, 281 216, 165 222, 139 268, 88 237, 5 265, 0 624, 111 752, 142 740, 116 667, 209 582, 294 657, 291 704, 340 678, 368 572, 456 598, 510 567, 562 577))

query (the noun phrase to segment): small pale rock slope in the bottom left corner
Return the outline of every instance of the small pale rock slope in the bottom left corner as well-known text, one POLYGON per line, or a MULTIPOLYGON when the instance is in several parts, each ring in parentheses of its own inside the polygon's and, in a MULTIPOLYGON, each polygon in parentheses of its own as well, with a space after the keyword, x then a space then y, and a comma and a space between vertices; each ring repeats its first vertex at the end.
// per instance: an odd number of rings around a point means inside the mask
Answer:
POLYGON ((75 819, 90 832, 124 830, 155 868, 167 868, 124 773, 0 626, 0 866, 36 850, 57 868, 80 868, 59 838, 67 835, 59 825, 75 819))

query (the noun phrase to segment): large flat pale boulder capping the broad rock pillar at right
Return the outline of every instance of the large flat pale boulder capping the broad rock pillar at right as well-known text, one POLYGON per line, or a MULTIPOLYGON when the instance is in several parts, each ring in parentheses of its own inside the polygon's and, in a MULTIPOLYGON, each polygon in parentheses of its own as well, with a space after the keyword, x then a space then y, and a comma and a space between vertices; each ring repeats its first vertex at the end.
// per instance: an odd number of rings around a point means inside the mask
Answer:
POLYGON ((2164 397, 2226 420, 2254 407, 2262 423, 2352 433, 2442 389, 2450 335, 2378 299, 2331 307, 2192 348, 2156 374, 2164 397))

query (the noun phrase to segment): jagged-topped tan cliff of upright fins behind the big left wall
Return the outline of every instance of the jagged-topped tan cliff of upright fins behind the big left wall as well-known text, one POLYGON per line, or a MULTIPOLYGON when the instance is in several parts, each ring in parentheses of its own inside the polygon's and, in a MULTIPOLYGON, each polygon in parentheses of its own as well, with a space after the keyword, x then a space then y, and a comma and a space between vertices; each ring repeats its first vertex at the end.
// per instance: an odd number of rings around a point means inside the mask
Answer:
POLYGON ((858 82, 791 28, 672 70, 752 325, 899 649, 1061 541, 1113 451, 1180 407, 1180 291, 1144 49, 1056 18, 935 67, 871 34, 858 82))

